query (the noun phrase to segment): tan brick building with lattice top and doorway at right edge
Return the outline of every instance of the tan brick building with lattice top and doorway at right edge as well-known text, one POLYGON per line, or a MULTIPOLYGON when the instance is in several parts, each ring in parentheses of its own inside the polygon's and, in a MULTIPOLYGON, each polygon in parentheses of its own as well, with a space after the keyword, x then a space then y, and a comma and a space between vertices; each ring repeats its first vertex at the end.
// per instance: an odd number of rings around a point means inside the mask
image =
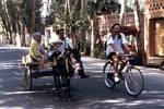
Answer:
POLYGON ((144 48, 150 64, 164 57, 164 0, 145 0, 144 48))

